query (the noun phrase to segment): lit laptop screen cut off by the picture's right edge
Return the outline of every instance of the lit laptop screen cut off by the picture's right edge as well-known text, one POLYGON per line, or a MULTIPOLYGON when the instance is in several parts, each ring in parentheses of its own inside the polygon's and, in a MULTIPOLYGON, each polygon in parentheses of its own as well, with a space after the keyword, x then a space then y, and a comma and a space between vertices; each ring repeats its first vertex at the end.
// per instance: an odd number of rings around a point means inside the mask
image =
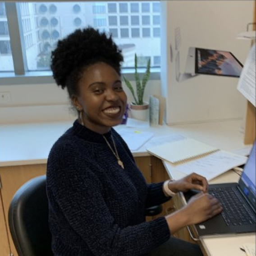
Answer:
POLYGON ((254 142, 247 163, 244 166, 241 178, 239 179, 239 187, 243 195, 255 210, 256 203, 256 142, 254 142))

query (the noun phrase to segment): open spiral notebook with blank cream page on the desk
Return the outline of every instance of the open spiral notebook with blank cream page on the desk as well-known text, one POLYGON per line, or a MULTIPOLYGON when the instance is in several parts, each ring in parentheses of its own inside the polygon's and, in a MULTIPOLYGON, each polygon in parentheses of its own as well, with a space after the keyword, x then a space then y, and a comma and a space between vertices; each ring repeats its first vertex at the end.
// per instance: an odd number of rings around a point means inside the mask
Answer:
POLYGON ((182 140, 152 146, 146 150, 162 160, 178 164, 186 160, 213 153, 219 149, 192 138, 184 138, 182 140))

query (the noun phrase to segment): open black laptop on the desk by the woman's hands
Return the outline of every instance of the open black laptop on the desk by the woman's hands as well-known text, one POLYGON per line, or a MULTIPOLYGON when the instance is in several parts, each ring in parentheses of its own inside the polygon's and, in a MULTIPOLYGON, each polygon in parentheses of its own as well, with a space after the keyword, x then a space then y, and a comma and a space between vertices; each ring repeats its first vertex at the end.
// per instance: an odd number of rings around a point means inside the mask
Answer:
MULTIPOLYGON (((214 217, 195 224, 198 237, 226 236, 256 232, 256 142, 238 183, 210 184, 208 192, 218 198, 223 211, 214 217), (224 199, 224 197, 227 197, 224 199), (225 201, 226 200, 226 201, 225 201), (237 201, 238 200, 238 201, 237 201), (232 217, 233 216, 233 217, 232 217)), ((182 197, 187 202, 195 192, 182 197)))

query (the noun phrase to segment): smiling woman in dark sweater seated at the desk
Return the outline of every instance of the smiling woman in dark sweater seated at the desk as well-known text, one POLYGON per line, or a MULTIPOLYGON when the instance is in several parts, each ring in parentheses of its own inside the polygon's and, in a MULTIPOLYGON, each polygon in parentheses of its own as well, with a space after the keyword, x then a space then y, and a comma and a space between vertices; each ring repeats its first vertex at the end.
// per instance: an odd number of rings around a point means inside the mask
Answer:
POLYGON ((191 174, 146 184, 128 146, 112 128, 122 122, 121 51, 111 37, 87 27, 58 42, 51 69, 67 88, 78 119, 52 147, 47 162, 49 225, 55 256, 201 256, 197 245, 171 235, 218 214, 207 193, 171 215, 145 221, 149 206, 178 191, 207 191, 191 174))

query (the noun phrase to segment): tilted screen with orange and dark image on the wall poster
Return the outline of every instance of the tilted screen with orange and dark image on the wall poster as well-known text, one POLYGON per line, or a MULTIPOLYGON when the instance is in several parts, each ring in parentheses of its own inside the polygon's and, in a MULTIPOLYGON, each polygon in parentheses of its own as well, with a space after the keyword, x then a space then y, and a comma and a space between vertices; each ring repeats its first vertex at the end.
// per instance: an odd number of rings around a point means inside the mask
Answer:
POLYGON ((229 51, 196 48, 196 73, 240 77, 242 64, 229 51))

